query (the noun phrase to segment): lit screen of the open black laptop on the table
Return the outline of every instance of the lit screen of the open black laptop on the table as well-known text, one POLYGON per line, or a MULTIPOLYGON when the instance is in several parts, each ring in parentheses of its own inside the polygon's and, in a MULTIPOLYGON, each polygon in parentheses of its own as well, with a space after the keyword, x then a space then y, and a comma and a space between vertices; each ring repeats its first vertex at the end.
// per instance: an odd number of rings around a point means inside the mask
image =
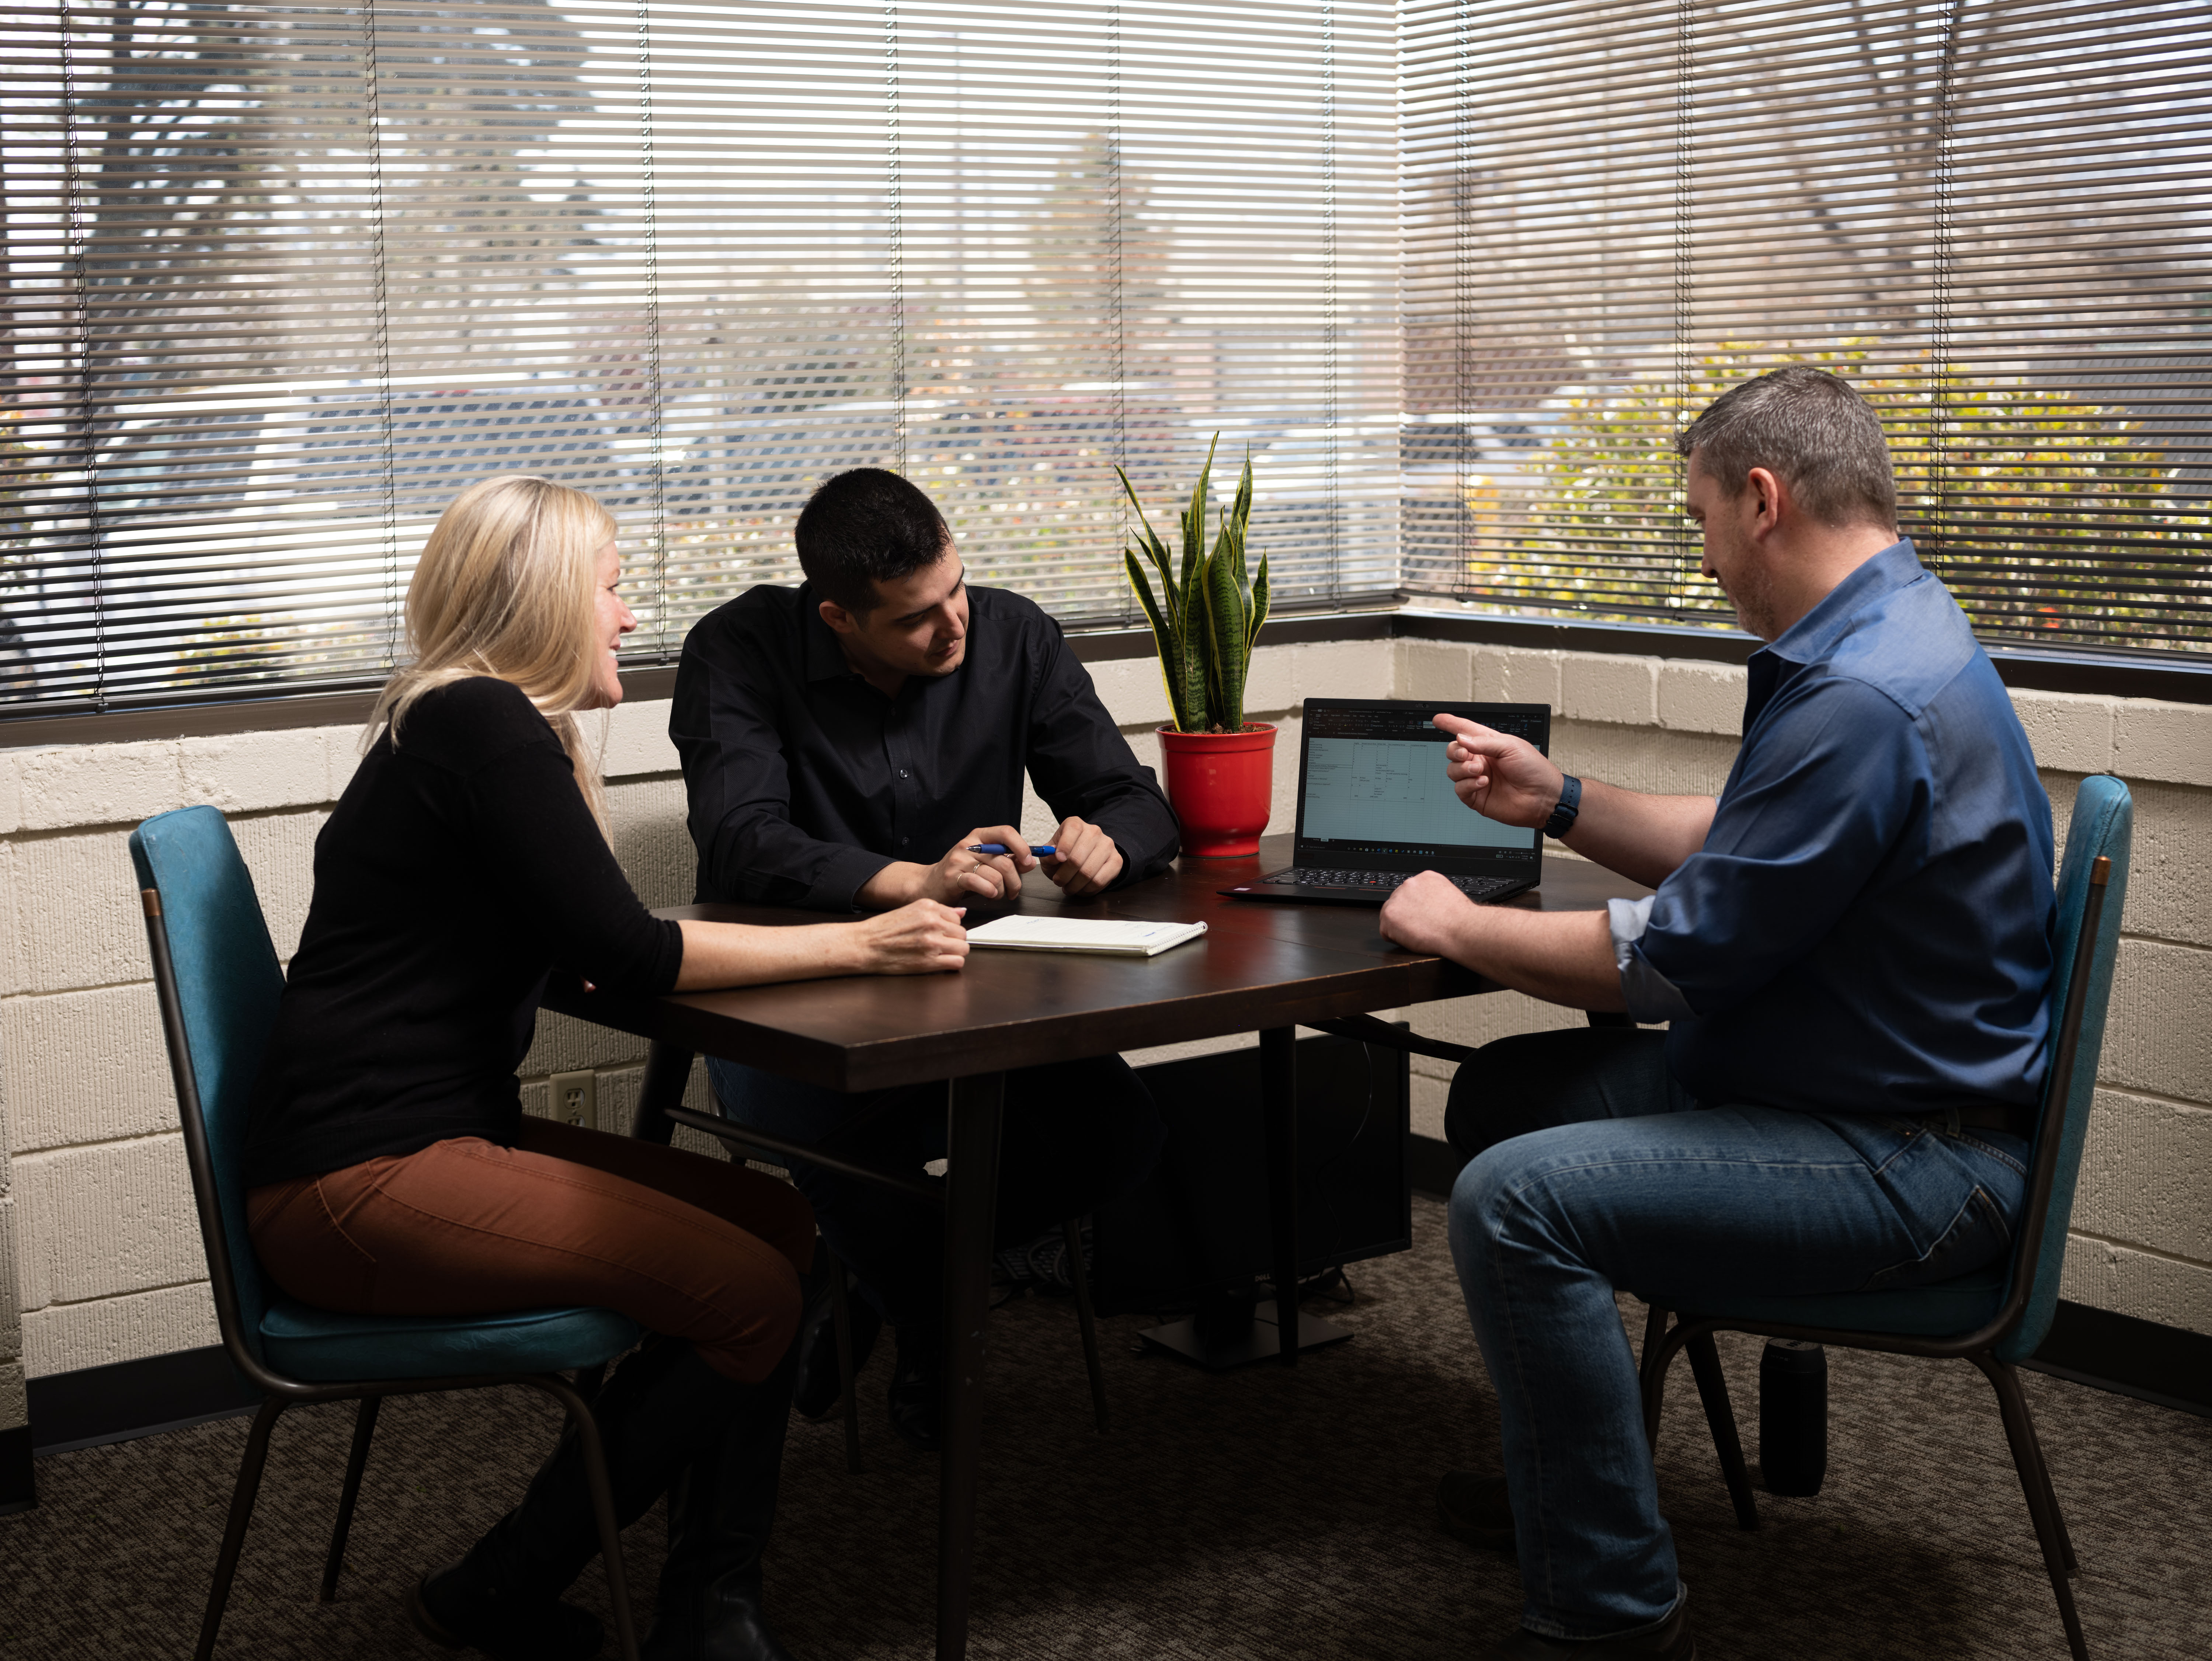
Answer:
POLYGON ((1500 825, 1451 794, 1447 732, 1431 714, 1462 714, 1551 743, 1544 703, 1411 703, 1307 699, 1298 748, 1298 863, 1365 869, 1531 871, 1542 832, 1500 825))

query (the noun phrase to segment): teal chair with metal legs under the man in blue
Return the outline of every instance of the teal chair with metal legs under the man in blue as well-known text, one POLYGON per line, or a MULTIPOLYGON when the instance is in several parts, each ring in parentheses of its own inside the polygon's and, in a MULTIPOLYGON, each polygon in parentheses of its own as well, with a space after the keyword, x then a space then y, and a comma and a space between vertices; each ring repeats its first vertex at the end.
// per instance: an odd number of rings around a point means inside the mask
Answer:
MULTIPOLYGON (((1803 1338, 1840 1349, 1882 1349, 1898 1356, 1971 1360, 1997 1391, 2004 1435, 2020 1471, 2020 1488, 2044 1550, 2051 1590, 2066 1623, 2075 1661, 2088 1661, 2081 1617, 2075 1612, 2075 1550, 2059 1515, 2057 1491, 2035 1440, 2028 1398, 2020 1389, 2020 1362, 2035 1354, 2051 1331, 2059 1300, 2059 1267, 2066 1261, 2066 1223, 2073 1216, 2081 1139, 2097 1093, 2097 1057, 2104 1051, 2104 1013, 2112 995, 2112 964, 2119 955, 2119 916, 2128 891, 2128 845, 2135 803, 2112 776, 2093 774, 2075 792, 2066 829, 2066 860, 2059 867, 2057 931, 2051 978, 2051 1068, 2035 1124, 2026 1201, 2013 1254, 1955 1281, 1898 1292, 1840 1292, 1816 1298, 1741 1298, 1725 1305, 1705 1300, 1666 1327, 1670 1300, 1655 1289, 1644 1343, 1644 1427, 1659 1442, 1659 1404, 1666 1369, 1677 1349, 1703 1343, 1710 1354, 1714 1331, 1756 1331, 1770 1338, 1803 1338)), ((1750 1475, 1736 1444, 1728 1407, 1728 1385, 1719 1360, 1699 1365, 1699 1391, 1712 1424, 1721 1469, 1736 1502, 1736 1519, 1759 1526, 1750 1475)))

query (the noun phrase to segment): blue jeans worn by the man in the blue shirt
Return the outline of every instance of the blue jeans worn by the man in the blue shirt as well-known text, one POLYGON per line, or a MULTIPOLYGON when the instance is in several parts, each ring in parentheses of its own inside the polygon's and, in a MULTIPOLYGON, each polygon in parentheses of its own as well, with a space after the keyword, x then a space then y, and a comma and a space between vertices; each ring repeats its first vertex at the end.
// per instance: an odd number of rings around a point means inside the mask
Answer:
MULTIPOLYGON (((1812 1059, 1812 1057, 1807 1057, 1812 1059)), ((1637 1632, 1681 1597, 1615 1289, 1907 1287, 2011 1247, 2028 1143, 1891 1115, 1708 1108, 1666 1037, 1531 1033, 1451 1084, 1451 1256, 1498 1389, 1522 1623, 1637 1632)))

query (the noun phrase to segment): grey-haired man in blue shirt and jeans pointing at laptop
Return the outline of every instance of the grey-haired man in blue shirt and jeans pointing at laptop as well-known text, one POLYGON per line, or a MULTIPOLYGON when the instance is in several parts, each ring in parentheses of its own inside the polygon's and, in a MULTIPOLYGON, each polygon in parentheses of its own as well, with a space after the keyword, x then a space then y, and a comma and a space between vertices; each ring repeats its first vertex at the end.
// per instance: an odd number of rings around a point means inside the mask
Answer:
POLYGON ((1436 717, 1453 787, 1657 891, 1610 913, 1475 907, 1422 874, 1383 933, 1668 1031, 1511 1037, 1460 1068, 1451 1250, 1506 1475, 1447 1526, 1520 1555, 1493 1654, 1697 1646, 1615 1287, 1918 1285, 2000 1256, 2026 1185, 2051 980, 2051 803, 1989 657, 1896 531, 1874 411, 1790 367, 1681 436, 1705 575, 1752 655, 1719 801, 1562 774, 1436 717))

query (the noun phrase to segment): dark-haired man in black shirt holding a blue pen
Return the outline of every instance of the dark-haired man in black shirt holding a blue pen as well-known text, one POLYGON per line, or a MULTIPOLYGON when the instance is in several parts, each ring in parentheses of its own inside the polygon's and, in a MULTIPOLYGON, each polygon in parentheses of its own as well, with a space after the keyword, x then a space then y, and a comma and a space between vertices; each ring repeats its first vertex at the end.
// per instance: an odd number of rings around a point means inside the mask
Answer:
MULTIPOLYGON (((1020 595, 969 588, 918 487, 872 467, 841 473, 796 535, 805 584, 752 588, 703 617, 677 666, 668 734, 684 756, 701 900, 874 911, 918 896, 1011 898, 1037 874, 1095 894, 1168 867, 1175 814, 1060 626, 1020 595), (1018 829, 1024 772, 1060 821, 1044 860, 1018 829)), ((945 1152, 942 1086, 838 1095, 732 1062, 708 1073, 721 1112, 761 1130, 885 1168, 945 1152)), ((1164 1139, 1119 1057, 1009 1073, 1000 1243, 1126 1194, 1164 1139)), ((936 1446, 940 1214, 816 1166, 792 1177, 863 1305, 898 1334, 891 1424, 936 1446)), ((874 1334, 867 1320, 856 1349, 874 1334)), ((838 1389, 827 1320, 801 1345, 799 1407, 827 1413, 838 1389)))

